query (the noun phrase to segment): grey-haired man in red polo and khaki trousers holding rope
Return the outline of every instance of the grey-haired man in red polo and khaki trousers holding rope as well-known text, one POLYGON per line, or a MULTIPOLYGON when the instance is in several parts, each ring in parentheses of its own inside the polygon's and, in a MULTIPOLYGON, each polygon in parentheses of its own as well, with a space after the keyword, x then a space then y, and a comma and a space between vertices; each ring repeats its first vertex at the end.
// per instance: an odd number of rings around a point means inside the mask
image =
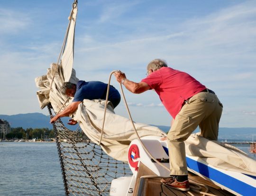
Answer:
POLYGON ((215 93, 189 74, 167 67, 165 61, 155 59, 147 65, 148 76, 133 82, 125 73, 114 73, 118 82, 132 93, 155 89, 163 105, 173 117, 167 134, 170 157, 170 178, 161 179, 166 186, 189 190, 184 141, 199 125, 201 136, 217 140, 222 104, 215 93))

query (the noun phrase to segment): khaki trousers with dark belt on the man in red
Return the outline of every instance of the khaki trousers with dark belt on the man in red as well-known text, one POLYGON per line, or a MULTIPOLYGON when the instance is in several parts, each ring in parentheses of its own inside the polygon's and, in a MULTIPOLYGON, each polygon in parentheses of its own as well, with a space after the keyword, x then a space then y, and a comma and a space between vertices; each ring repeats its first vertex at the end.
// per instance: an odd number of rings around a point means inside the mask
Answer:
POLYGON ((217 96, 209 92, 200 92, 185 103, 167 134, 170 175, 188 175, 184 141, 198 125, 202 137, 218 139, 222 107, 217 96))

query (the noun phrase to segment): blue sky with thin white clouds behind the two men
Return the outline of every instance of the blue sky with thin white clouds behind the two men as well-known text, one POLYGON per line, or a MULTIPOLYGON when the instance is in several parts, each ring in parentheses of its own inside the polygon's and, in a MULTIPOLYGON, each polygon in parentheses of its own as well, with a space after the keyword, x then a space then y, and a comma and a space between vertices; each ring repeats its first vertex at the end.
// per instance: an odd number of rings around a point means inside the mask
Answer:
MULTIPOLYGON (((40 112, 35 78, 57 62, 73 0, 0 0, 0 114, 40 112)), ((164 59, 215 91, 220 127, 256 127, 256 1, 79 0, 74 65, 80 80, 121 70, 146 77, 164 59)), ((113 77, 111 84, 119 89, 113 77)), ((153 90, 124 90, 133 120, 170 125, 153 90)), ((128 116, 123 100, 116 113, 128 116)))

